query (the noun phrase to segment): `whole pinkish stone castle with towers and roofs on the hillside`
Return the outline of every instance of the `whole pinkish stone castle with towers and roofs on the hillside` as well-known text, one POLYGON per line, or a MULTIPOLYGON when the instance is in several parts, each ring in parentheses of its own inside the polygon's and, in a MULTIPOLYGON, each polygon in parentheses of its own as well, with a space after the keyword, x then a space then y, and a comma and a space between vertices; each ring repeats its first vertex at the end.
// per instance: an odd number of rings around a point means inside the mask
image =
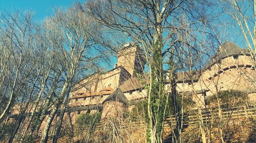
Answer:
MULTIPOLYGON (((143 74, 145 60, 141 49, 130 43, 118 51, 115 68, 103 74, 95 73, 75 84, 70 93, 69 107, 72 120, 80 113, 102 112, 101 119, 122 116, 137 101, 147 98, 147 90, 137 74, 143 74)), ((247 49, 231 42, 222 44, 202 71, 176 74, 176 90, 186 93, 196 106, 205 107, 205 99, 217 91, 238 90, 256 98, 255 67, 247 49)), ((170 79, 166 77, 165 89, 170 92, 170 79)))

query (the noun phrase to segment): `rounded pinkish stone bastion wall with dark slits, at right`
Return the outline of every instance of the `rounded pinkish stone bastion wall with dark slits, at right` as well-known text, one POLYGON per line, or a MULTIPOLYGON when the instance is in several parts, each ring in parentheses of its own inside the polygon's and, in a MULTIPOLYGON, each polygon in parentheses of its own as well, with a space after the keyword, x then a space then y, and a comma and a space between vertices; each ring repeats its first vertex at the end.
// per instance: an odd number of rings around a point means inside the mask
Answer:
POLYGON ((202 72, 199 82, 196 84, 196 89, 209 90, 207 96, 215 94, 217 90, 243 91, 255 89, 255 79, 256 72, 252 67, 249 56, 240 55, 237 59, 231 56, 202 72))

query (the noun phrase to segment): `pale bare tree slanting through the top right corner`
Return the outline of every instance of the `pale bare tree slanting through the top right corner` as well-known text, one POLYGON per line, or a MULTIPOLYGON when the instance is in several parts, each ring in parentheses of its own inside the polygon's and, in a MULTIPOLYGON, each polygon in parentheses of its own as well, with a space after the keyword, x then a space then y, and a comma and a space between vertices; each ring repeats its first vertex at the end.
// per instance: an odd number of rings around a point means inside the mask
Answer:
POLYGON ((247 49, 251 54, 251 60, 255 65, 256 56, 256 1, 220 1, 220 4, 226 10, 226 13, 231 16, 231 19, 236 21, 239 28, 236 30, 241 38, 243 38, 244 44, 247 45, 247 49))

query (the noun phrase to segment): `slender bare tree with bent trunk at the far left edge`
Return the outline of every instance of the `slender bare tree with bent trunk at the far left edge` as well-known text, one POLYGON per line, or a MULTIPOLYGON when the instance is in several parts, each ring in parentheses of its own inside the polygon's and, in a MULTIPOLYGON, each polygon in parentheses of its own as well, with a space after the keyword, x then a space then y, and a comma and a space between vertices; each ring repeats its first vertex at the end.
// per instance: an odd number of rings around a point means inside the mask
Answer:
MULTIPOLYGON (((3 121, 4 116, 6 116, 7 112, 9 112, 10 108, 13 105, 13 102, 17 98, 15 88, 18 86, 17 84, 20 77, 20 72, 24 64, 26 64, 24 61, 26 60, 26 54, 29 52, 28 47, 32 41, 31 16, 31 14, 24 14, 19 17, 19 13, 15 13, 13 15, 7 13, 6 15, 2 15, 0 30, 2 34, 4 34, 7 38, 5 41, 6 45, 2 47, 2 50, 4 51, 4 53, 6 53, 6 56, 9 59, 8 61, 10 61, 9 63, 13 63, 13 67, 10 67, 12 69, 8 69, 8 71, 15 72, 13 74, 14 78, 10 76, 11 73, 5 73, 9 74, 9 77, 7 78, 3 76, 3 78, 8 79, 9 82, 9 99, 6 108, 3 110, 3 112, 1 112, 0 121, 3 121)), ((7 61, 5 62, 5 64, 8 63, 7 61)), ((9 66, 7 67, 9 68, 9 66)), ((4 68, 2 74, 5 75, 4 68)), ((2 80, 2 85, 4 82, 5 80, 2 80)))

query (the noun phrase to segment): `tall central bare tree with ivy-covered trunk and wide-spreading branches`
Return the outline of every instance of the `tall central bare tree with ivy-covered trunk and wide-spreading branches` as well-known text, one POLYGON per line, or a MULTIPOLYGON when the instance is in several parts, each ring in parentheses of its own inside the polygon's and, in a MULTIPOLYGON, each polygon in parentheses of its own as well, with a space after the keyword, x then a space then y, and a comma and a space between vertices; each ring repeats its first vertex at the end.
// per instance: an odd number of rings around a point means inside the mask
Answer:
POLYGON ((183 16, 189 17, 190 21, 186 26, 194 28, 200 27, 202 23, 207 24, 206 19, 211 12, 201 6, 209 5, 211 4, 201 1, 112 0, 89 2, 85 8, 78 5, 82 11, 115 33, 122 33, 142 46, 151 80, 148 84, 147 101, 150 142, 162 142, 162 122, 167 98, 164 92, 163 61, 172 51, 170 49, 181 43, 176 32, 183 31, 184 25, 179 20, 183 16))

